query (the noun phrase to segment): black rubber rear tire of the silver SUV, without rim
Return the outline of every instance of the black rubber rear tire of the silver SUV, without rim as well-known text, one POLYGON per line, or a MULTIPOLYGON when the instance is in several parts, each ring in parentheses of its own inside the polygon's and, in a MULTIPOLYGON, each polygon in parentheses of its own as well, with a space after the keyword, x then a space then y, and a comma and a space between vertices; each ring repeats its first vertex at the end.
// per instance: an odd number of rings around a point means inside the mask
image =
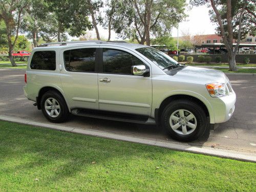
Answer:
POLYGON ((44 95, 42 95, 40 105, 41 105, 42 113, 50 122, 60 123, 60 122, 67 121, 69 118, 70 113, 69 113, 67 103, 65 99, 62 97, 62 95, 60 95, 56 91, 48 91, 44 95), (50 98, 55 99, 58 103, 59 114, 57 116, 55 114, 56 117, 50 116, 46 110, 45 103, 46 103, 46 100, 50 98))

